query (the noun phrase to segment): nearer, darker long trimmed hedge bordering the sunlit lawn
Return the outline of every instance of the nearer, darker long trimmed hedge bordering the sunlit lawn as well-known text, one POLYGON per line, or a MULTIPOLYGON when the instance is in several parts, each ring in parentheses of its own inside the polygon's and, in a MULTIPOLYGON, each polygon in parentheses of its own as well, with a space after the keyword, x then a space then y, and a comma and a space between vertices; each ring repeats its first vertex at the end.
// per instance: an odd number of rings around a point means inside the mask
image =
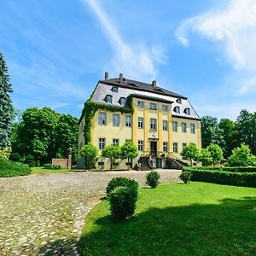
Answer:
MULTIPOLYGON (((188 171, 187 168, 185 170, 188 171)), ((256 188, 256 172, 209 171, 197 167, 189 168, 189 172, 192 173, 192 181, 256 188)))

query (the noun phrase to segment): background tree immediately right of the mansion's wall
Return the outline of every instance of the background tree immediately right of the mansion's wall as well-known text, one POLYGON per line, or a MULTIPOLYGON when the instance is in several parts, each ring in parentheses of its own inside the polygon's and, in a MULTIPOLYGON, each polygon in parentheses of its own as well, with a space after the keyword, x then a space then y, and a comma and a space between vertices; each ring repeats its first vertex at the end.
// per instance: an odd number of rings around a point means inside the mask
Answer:
POLYGON ((207 148, 211 143, 224 145, 223 131, 218 127, 218 119, 204 116, 201 119, 202 148, 207 148))

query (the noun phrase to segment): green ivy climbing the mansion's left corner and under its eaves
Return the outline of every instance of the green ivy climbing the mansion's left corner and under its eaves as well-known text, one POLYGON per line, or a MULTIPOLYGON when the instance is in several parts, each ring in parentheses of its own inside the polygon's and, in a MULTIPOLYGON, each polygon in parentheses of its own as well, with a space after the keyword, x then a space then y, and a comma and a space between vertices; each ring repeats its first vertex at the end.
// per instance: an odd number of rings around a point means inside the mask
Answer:
POLYGON ((84 109, 79 122, 84 118, 84 143, 85 145, 91 143, 91 121, 98 109, 106 110, 108 112, 120 112, 120 113, 133 113, 131 105, 131 96, 127 97, 128 108, 111 106, 108 104, 92 102, 91 99, 84 103, 84 109))

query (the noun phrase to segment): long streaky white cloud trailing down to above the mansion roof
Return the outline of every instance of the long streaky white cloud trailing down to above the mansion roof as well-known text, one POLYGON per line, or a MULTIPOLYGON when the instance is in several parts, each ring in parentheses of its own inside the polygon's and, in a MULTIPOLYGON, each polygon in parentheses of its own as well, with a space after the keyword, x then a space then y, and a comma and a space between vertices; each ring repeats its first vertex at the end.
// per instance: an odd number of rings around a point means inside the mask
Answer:
POLYGON ((108 62, 107 70, 110 69, 113 73, 122 72, 131 78, 154 79, 157 74, 156 65, 165 63, 165 49, 160 46, 147 48, 142 45, 127 44, 97 1, 82 1, 85 7, 90 6, 96 14, 115 51, 115 56, 108 62))

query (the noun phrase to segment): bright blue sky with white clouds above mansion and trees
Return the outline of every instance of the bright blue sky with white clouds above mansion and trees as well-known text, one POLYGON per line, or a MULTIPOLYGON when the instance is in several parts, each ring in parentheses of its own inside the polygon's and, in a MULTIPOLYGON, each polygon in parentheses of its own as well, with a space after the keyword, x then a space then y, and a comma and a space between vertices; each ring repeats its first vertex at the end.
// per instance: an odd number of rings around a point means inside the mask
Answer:
POLYGON ((79 117, 108 71, 156 79, 201 116, 256 111, 253 0, 2 0, 0 17, 15 108, 79 117))

